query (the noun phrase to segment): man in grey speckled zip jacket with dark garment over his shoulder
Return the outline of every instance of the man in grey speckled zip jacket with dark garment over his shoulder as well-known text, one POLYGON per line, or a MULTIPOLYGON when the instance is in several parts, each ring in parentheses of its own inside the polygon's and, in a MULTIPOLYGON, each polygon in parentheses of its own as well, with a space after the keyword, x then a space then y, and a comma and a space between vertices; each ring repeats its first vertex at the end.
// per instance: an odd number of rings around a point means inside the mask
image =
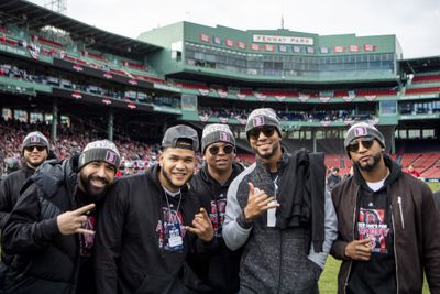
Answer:
POLYGON ((337 236, 322 154, 280 146, 273 109, 252 111, 245 127, 256 162, 229 187, 223 238, 243 247, 240 293, 318 293, 337 236))

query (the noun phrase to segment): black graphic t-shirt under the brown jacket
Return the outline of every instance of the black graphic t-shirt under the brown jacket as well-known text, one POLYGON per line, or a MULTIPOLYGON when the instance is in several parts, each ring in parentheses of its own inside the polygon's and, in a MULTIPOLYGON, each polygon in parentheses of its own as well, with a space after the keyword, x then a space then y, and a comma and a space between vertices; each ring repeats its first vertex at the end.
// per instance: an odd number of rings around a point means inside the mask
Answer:
POLYGON ((361 188, 354 237, 372 240, 369 261, 353 261, 346 293, 396 293, 394 231, 386 189, 361 188))

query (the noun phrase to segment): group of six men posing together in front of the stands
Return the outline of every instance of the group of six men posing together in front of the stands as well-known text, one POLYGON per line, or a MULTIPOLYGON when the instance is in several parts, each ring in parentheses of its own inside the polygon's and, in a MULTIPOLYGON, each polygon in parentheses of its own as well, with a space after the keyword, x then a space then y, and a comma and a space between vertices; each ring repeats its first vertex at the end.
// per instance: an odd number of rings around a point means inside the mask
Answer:
POLYGON ((45 161, 48 140, 30 133, 0 189, 0 293, 318 293, 329 253, 342 260, 339 293, 421 293, 424 272, 440 293, 432 193, 375 127, 348 131, 354 174, 331 194, 323 154, 285 150, 275 111, 252 111, 245 133, 246 170, 227 124, 201 140, 178 124, 158 164, 123 177, 108 140, 45 161))

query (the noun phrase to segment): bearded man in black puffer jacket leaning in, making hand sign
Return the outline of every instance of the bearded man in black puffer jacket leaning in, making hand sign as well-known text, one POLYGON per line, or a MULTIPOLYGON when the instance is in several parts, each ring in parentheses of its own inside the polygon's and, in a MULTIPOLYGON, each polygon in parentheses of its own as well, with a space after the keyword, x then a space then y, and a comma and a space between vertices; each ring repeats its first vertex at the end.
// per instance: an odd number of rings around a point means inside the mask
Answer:
POLYGON ((3 230, 3 250, 16 254, 4 293, 95 293, 95 218, 119 164, 117 146, 102 140, 40 166, 3 230))

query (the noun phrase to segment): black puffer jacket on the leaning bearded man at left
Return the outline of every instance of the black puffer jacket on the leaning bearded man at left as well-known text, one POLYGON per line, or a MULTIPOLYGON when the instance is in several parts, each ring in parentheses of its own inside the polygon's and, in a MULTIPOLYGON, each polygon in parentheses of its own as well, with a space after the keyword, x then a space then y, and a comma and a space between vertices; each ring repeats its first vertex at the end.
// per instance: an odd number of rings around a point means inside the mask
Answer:
MULTIPOLYGON (((77 157, 47 161, 26 182, 6 224, 2 248, 19 254, 25 270, 15 279, 13 293, 76 293, 79 272, 77 235, 61 235, 56 221, 75 210, 77 157)), ((88 287, 92 292, 92 283, 88 287)))

